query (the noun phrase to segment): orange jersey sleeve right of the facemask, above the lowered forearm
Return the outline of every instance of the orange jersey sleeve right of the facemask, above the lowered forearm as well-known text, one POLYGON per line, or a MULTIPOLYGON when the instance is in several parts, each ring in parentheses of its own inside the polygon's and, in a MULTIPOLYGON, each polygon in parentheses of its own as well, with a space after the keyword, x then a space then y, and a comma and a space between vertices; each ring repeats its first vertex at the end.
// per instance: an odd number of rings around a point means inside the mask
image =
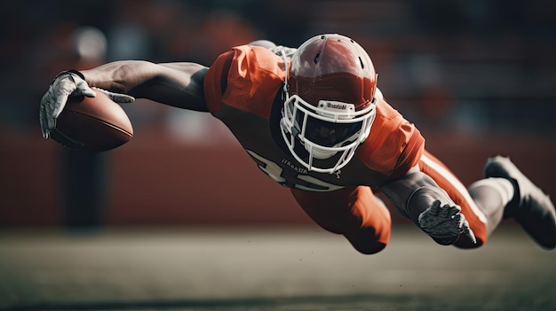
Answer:
POLYGON ((394 180, 417 165, 425 149, 425 138, 384 100, 377 101, 377 116, 357 157, 370 169, 394 180))

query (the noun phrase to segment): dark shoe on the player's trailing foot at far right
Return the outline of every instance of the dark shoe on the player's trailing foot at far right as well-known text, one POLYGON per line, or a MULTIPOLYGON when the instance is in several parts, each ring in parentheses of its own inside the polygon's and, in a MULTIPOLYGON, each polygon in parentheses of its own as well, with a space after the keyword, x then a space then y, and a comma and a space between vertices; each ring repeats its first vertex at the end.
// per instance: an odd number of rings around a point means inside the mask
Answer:
POLYGON ((512 201, 505 206, 504 218, 513 218, 546 249, 556 246, 556 212, 544 194, 508 158, 496 156, 485 164, 486 177, 502 177, 513 184, 512 201))

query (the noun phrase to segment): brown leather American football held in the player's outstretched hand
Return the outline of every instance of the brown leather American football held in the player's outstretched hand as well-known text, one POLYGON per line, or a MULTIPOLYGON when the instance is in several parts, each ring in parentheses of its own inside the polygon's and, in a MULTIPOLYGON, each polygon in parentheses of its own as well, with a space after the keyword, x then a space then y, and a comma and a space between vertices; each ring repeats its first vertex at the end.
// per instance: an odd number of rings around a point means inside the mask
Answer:
POLYGON ((133 137, 133 127, 123 108, 94 89, 96 97, 69 97, 52 130, 52 139, 82 152, 106 152, 133 137))

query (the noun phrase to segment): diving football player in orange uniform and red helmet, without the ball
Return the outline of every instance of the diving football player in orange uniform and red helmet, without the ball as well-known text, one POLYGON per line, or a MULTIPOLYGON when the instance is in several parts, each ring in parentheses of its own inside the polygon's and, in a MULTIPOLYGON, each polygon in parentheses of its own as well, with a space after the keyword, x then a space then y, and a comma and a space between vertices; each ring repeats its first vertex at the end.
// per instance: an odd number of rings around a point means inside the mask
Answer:
POLYGON ((484 245, 504 218, 545 249, 556 245, 554 206, 542 190, 501 156, 466 188, 388 105, 369 55, 344 35, 316 35, 298 49, 237 46, 210 67, 129 60, 62 72, 41 102, 44 138, 68 96, 93 97, 91 87, 118 103, 141 97, 211 113, 314 222, 361 253, 380 252, 390 238, 377 191, 441 245, 484 245))

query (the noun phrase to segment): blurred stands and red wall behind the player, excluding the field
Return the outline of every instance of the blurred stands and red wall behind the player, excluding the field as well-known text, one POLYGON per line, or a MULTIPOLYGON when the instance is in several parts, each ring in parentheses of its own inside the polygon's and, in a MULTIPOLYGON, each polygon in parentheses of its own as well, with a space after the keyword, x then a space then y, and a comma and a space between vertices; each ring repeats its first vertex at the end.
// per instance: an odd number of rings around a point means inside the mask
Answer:
POLYGON ((61 70, 117 59, 209 66, 236 44, 298 46, 327 32, 369 51, 385 97, 464 183, 502 153, 554 192, 554 8, 542 0, 1 2, 0 225, 309 223, 208 115, 138 100, 124 106, 133 140, 85 156, 42 139, 37 107, 61 70))

